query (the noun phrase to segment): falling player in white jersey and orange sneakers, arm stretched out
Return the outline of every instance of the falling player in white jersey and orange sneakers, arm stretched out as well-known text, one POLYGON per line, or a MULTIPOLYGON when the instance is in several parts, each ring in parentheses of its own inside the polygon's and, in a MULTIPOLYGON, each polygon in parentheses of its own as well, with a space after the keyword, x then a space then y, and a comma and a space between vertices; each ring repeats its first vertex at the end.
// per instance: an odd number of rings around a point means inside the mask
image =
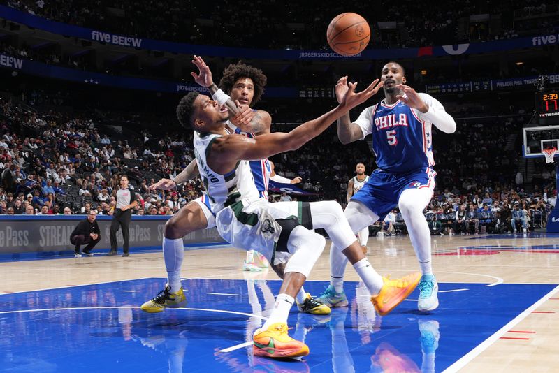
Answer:
MULTIPOLYGON (((208 76, 209 69, 202 68, 205 66, 203 60, 194 56, 194 63, 201 71, 200 75, 193 74, 196 82, 208 87, 212 98, 190 92, 182 98, 177 117, 183 126, 189 125, 195 130, 194 153, 212 210, 216 213, 219 234, 235 247, 258 249, 270 263, 286 265, 275 308, 261 330, 254 334, 254 355, 272 358, 305 356, 308 347, 287 335, 286 321, 293 297, 319 258, 325 240, 301 226, 296 217, 275 209, 268 200, 260 198, 247 161, 298 149, 328 128, 333 120, 375 94, 380 88, 378 80, 358 94, 354 92, 355 85, 350 83, 336 108, 289 133, 247 138, 227 134, 225 123, 229 114, 224 105, 231 100, 210 83, 211 75, 208 76)), ((340 241, 347 242, 342 251, 354 263, 358 275, 373 294, 372 302, 377 312, 387 314, 413 291, 419 274, 398 281, 382 278, 361 252, 347 220, 340 219, 337 225, 340 241)))

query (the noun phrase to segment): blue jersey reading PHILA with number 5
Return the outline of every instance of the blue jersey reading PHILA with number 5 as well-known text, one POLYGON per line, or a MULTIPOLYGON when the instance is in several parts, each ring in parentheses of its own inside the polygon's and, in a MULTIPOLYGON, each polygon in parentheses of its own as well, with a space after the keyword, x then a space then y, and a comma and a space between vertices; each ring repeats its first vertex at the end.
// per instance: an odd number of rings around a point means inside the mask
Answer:
MULTIPOLYGON (((428 103, 436 101, 427 94, 419 95, 428 103)), ((372 150, 382 170, 408 173, 435 165, 431 123, 420 119, 418 110, 402 101, 387 105, 382 100, 363 110, 356 123, 363 138, 372 133, 372 150)))

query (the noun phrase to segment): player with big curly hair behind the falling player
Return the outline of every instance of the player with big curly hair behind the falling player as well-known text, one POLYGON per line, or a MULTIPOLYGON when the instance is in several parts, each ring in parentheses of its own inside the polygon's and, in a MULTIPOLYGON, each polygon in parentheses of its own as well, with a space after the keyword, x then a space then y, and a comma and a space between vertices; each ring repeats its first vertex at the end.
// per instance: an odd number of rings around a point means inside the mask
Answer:
MULTIPOLYGON (((264 75, 262 71, 242 63, 231 64, 224 70, 224 75, 219 82, 219 86, 231 95, 232 101, 242 103, 242 107, 245 108, 245 110, 240 110, 235 118, 227 122, 226 128, 230 133, 235 133, 235 131, 236 133, 240 133, 240 130, 236 128, 233 122, 238 124, 238 126, 249 124, 249 126, 245 127, 247 130, 245 135, 249 137, 270 133, 271 117, 268 112, 264 110, 250 110, 250 107, 260 100, 264 87, 266 86, 266 75, 264 75), (247 108, 249 110, 246 110, 247 108), (247 111, 252 111, 252 113, 247 113, 247 111)), ((232 103, 232 105, 234 105, 234 103, 232 103)), ((236 106, 235 110, 237 110, 236 106)), ((274 165, 272 162, 268 161, 268 159, 251 161, 250 166, 256 188, 262 198, 268 199, 268 180, 276 180, 277 182, 289 180, 276 175, 274 172, 274 165)), ((150 189, 172 190, 177 185, 191 180, 198 174, 196 159, 194 159, 187 168, 173 180, 161 179, 159 182, 152 184, 150 189)), ((300 177, 289 180, 289 182, 296 184, 300 182, 300 177)), ((325 203, 323 203, 323 205, 324 204, 325 203)), ((317 210, 316 206, 314 206, 314 210, 317 210)), ((295 216, 298 215, 297 212, 297 205, 295 205, 295 216)), ((317 216, 314 221, 312 221, 312 219, 307 219, 311 225, 319 225, 314 228, 326 228, 326 230, 328 230, 329 226, 335 226, 335 221, 324 224, 320 217, 318 217, 319 213, 320 211, 314 211, 314 214, 317 216)), ((331 214, 328 215, 328 217, 331 216, 331 214)), ((182 207, 177 214, 167 221, 164 237, 183 237, 183 235, 187 235, 198 229, 209 229, 213 227, 215 227, 215 214, 212 212, 210 199, 204 194, 202 197, 196 198, 196 200, 182 207)), ((159 292, 152 300, 148 300, 141 306, 144 312, 156 313, 164 311, 166 307, 176 308, 186 305, 187 300, 180 284, 180 269, 182 268, 182 261, 184 259, 184 247, 182 244, 172 245, 170 241, 164 240, 163 255, 168 283, 164 286, 163 291, 159 292)), ((266 258, 259 254, 258 251, 254 250, 247 251, 245 265, 247 263, 250 265, 251 262, 254 261, 254 257, 258 257, 259 262, 266 263, 267 266, 268 261, 266 261, 266 258)), ((256 268, 254 263, 252 263, 252 267, 256 268)), ((283 276, 283 268, 281 266, 273 265, 272 268, 280 278, 283 276)), ((258 269, 261 270, 261 268, 258 269)), ((309 314, 329 314, 331 311, 329 307, 323 305, 321 302, 317 302, 309 293, 305 292, 303 286, 296 296, 296 302, 300 312, 309 314)))

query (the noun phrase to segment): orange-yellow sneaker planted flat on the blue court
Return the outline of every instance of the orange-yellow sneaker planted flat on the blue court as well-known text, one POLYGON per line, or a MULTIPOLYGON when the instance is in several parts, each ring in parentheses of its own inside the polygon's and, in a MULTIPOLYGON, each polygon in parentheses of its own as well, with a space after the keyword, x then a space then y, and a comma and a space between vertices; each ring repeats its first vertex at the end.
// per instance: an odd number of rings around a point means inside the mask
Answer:
POLYGON ((268 358, 298 358, 309 354, 309 347, 287 335, 286 323, 275 323, 268 330, 258 329, 252 337, 254 356, 268 358))

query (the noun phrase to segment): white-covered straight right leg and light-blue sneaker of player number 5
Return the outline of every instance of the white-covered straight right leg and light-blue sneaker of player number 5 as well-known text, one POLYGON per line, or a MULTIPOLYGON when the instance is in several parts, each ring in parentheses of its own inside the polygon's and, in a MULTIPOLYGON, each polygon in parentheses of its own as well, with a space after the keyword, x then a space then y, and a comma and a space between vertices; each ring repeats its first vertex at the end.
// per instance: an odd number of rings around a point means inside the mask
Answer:
POLYGON ((429 225, 423 216, 423 209, 431 200, 432 193, 430 188, 409 188, 402 191, 398 200, 398 207, 400 207, 409 239, 412 241, 421 268, 420 295, 417 302, 418 309, 421 311, 432 311, 439 305, 438 285, 433 275, 431 262, 429 225))

